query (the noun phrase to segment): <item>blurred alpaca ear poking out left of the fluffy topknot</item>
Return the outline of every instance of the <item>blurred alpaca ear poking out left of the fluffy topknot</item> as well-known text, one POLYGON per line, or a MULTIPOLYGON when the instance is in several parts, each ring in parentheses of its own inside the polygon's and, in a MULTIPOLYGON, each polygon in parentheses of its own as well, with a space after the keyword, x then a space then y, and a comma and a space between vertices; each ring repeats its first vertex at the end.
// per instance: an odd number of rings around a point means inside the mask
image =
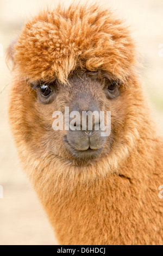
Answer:
POLYGON ((14 59, 14 46, 16 44, 16 40, 12 41, 7 48, 7 53, 6 53, 6 64, 8 66, 9 70, 14 70, 15 68, 15 59, 14 59))

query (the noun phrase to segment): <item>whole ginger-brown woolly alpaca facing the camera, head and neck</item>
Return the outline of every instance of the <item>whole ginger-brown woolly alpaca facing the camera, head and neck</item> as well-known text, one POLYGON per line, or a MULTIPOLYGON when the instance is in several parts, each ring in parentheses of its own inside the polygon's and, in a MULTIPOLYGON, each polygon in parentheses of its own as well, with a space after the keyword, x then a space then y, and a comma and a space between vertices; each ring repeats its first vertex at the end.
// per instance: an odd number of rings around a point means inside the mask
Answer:
POLYGON ((71 4, 29 20, 12 47, 9 122, 60 245, 163 243, 163 140, 123 22, 71 4), (53 112, 111 111, 110 136, 54 131, 53 112))

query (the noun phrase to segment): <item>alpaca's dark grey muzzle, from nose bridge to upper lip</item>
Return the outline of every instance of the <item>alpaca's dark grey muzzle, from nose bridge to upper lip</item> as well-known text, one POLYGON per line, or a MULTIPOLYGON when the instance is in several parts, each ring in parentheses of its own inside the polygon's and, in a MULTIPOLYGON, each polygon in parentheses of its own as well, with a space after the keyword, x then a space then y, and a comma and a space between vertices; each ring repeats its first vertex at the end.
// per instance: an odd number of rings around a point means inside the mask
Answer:
POLYGON ((101 136, 100 112, 96 101, 90 95, 80 94, 70 108, 70 112, 70 130, 66 135, 70 150, 82 154, 89 150, 91 153, 100 151, 105 143, 105 137, 101 136))

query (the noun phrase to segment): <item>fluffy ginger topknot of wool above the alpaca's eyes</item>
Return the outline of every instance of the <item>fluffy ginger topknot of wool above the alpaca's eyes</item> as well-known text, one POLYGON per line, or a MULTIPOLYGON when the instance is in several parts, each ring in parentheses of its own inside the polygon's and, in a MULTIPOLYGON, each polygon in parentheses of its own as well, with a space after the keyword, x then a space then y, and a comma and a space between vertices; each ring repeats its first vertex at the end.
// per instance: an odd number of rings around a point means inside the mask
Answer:
POLYGON ((134 44, 122 21, 93 5, 58 7, 28 21, 14 58, 24 78, 66 82, 75 69, 102 69, 125 80, 135 64, 134 44))

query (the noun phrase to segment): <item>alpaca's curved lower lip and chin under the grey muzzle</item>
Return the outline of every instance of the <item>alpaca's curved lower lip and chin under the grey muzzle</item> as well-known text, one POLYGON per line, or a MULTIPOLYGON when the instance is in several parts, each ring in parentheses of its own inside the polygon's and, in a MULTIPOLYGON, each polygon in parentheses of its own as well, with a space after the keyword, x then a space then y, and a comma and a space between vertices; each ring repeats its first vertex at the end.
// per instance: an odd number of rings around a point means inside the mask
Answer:
POLYGON ((67 136, 64 138, 66 148, 68 149, 69 153, 78 160, 89 160, 89 159, 95 159, 97 156, 99 156, 102 151, 103 147, 99 149, 91 149, 90 147, 85 150, 77 150, 76 148, 71 145, 68 140, 67 136))

